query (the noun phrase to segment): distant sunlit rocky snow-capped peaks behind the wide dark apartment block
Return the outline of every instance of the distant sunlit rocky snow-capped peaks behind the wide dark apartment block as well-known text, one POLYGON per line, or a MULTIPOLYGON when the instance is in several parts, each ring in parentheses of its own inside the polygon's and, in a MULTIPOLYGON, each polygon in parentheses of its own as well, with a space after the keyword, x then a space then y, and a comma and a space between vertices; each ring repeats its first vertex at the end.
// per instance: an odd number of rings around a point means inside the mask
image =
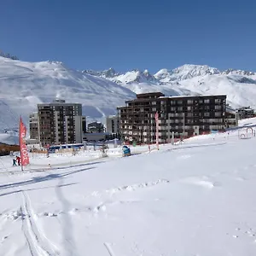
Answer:
MULTIPOLYGON (((102 73, 94 73, 102 77, 102 73)), ((234 108, 256 108, 256 74, 228 69, 220 71, 207 65, 183 65, 173 70, 161 69, 154 75, 148 71, 133 70, 106 77, 135 93, 161 91, 167 96, 226 94, 234 108)))

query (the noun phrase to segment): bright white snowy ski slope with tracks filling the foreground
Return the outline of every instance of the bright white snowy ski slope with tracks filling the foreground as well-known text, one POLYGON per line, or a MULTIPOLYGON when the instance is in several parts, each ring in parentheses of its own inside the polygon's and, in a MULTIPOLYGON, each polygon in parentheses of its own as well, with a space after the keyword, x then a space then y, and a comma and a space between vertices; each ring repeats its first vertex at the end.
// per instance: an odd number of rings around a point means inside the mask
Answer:
POLYGON ((255 143, 230 131, 123 158, 34 154, 23 173, 1 157, 1 255, 254 256, 255 143))

